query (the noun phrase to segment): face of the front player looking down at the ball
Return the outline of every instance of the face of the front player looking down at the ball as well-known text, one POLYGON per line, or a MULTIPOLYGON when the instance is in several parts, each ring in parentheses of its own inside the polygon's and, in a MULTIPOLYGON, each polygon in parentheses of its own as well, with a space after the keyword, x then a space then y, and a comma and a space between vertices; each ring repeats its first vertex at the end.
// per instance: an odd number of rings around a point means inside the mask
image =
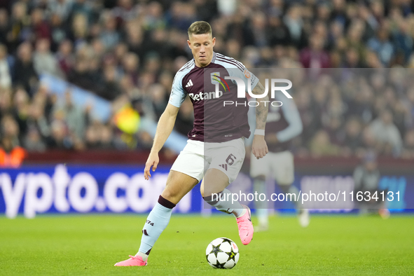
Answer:
POLYGON ((212 62, 213 47, 216 44, 216 38, 212 34, 192 34, 187 43, 193 52, 195 65, 206 67, 212 62))

